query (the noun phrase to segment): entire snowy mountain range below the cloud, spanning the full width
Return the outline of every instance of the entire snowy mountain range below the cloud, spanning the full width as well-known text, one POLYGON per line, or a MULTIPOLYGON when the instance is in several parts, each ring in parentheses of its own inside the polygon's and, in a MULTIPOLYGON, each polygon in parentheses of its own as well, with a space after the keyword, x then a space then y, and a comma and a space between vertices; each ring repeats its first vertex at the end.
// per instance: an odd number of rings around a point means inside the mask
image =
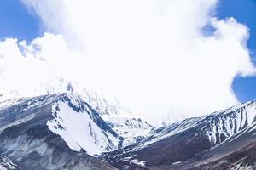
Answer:
POLYGON ((256 168, 256 101, 154 127, 84 92, 1 95, 0 169, 256 168))

